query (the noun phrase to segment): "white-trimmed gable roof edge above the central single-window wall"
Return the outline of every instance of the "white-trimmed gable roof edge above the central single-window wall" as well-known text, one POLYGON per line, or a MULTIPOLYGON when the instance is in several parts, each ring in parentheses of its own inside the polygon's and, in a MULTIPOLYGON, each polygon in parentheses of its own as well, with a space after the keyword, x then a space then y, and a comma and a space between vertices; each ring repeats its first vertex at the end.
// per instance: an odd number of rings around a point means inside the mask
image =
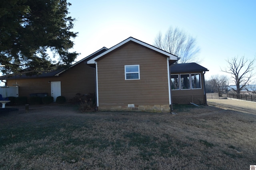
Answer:
POLYGON ((108 49, 108 50, 105 51, 104 53, 102 53, 102 54, 100 54, 100 55, 98 55, 98 56, 96 56, 96 57, 94 57, 94 58, 88 60, 88 61, 87 61, 87 64, 96 64, 96 60, 97 60, 97 59, 99 59, 100 57, 102 57, 102 56, 104 56, 104 55, 110 53, 111 51, 117 49, 118 47, 121 47, 122 45, 124 45, 124 44, 126 44, 126 43, 128 43, 128 42, 130 42, 130 41, 135 42, 135 43, 138 43, 138 44, 140 44, 140 45, 142 45, 142 46, 144 46, 144 47, 147 47, 148 49, 151 49, 151 50, 156 51, 156 52, 158 52, 158 53, 161 53, 161 54, 163 54, 163 55, 166 55, 166 57, 170 57, 170 60, 178 60, 178 57, 177 57, 176 55, 172 55, 171 53, 168 53, 168 52, 166 52, 166 51, 163 51, 163 50, 161 50, 161 49, 158 49, 158 48, 156 48, 156 47, 154 47, 154 46, 152 46, 152 45, 149 45, 149 44, 147 44, 147 43, 144 43, 144 42, 142 42, 142 41, 140 41, 140 40, 138 40, 138 39, 135 39, 135 38, 133 38, 133 37, 129 37, 128 39, 125 39, 124 41, 122 41, 122 42, 118 43, 117 45, 111 47, 110 49, 108 49))

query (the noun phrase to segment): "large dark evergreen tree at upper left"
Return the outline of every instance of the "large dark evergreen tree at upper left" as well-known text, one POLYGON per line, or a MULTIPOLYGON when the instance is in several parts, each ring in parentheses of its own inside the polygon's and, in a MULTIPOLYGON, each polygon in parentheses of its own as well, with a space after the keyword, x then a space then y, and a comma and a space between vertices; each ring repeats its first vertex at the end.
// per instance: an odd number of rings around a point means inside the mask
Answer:
POLYGON ((71 64, 77 33, 66 0, 3 0, 0 3, 0 67, 4 74, 36 73, 71 64), (49 51, 51 51, 49 53, 49 51), (53 57, 58 57, 57 61, 53 57))

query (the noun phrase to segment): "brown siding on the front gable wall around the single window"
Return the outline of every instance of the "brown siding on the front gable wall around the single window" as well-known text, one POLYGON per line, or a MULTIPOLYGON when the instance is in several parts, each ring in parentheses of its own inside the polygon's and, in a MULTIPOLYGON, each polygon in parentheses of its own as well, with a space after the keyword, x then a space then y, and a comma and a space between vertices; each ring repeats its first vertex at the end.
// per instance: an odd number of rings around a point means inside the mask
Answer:
POLYGON ((127 43, 98 60, 99 105, 169 104, 166 57, 127 43), (140 65, 140 80, 125 80, 125 65, 140 65))

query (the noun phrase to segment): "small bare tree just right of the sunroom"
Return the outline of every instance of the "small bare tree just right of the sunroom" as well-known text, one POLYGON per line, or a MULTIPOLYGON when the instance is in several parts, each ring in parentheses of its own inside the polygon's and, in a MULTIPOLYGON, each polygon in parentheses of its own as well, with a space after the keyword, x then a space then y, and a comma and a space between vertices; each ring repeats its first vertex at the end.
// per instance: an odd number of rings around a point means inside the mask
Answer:
POLYGON ((228 81, 227 76, 219 74, 212 75, 210 82, 214 87, 214 92, 218 92, 219 97, 228 92, 228 81))

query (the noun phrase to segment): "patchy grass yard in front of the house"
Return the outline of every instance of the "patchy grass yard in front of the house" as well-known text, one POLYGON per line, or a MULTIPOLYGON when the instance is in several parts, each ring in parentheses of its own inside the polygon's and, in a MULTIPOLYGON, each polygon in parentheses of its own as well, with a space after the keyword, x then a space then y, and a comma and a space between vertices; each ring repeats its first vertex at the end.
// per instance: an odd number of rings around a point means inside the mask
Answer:
POLYGON ((0 169, 249 169, 256 115, 174 106, 178 115, 78 113, 74 107, 0 117, 0 169), (60 111, 61 112, 61 111, 60 111))

